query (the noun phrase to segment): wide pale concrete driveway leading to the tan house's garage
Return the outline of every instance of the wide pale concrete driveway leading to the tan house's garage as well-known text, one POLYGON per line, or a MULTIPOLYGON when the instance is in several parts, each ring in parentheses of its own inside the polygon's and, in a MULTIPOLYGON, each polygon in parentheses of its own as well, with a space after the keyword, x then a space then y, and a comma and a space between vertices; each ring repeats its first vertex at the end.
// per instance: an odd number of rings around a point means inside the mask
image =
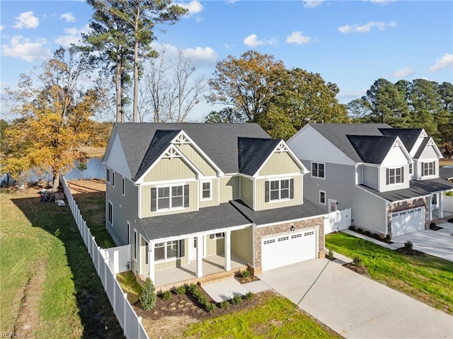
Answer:
POLYGON ((345 338, 453 338, 453 317, 327 259, 263 272, 260 279, 345 338))

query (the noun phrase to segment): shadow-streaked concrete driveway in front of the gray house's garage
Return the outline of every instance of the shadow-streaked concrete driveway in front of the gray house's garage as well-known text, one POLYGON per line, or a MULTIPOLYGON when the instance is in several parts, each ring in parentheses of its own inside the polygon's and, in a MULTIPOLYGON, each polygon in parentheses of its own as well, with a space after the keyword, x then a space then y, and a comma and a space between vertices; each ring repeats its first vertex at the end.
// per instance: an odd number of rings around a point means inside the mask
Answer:
POLYGON ((436 257, 453 261, 453 224, 445 222, 437 226, 443 227, 438 231, 424 229, 403 236, 396 236, 391 239, 391 245, 399 248, 403 247, 406 241, 412 241, 413 249, 435 255, 436 257))

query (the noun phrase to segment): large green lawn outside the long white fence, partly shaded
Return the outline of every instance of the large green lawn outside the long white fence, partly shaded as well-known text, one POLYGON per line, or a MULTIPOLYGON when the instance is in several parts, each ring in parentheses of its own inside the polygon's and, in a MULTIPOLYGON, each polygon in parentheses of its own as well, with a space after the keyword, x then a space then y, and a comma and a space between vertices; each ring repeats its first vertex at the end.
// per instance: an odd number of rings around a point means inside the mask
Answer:
POLYGON ((28 338, 119 338, 69 207, 1 191, 0 328, 28 338), (30 326, 28 328, 28 326, 30 326))

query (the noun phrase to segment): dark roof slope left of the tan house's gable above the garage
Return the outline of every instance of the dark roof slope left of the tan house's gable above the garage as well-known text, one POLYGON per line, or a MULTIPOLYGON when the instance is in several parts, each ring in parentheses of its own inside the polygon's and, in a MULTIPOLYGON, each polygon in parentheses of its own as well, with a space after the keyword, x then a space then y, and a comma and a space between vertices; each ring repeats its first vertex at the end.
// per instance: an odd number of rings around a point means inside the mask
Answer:
POLYGON ((239 173, 253 176, 280 141, 280 139, 239 137, 239 173))

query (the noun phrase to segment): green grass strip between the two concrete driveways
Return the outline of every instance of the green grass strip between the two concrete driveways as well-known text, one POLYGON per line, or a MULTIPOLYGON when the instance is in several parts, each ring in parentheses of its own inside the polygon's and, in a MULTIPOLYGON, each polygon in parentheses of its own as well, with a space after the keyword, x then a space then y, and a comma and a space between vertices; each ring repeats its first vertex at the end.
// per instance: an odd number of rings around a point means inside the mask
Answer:
POLYGON ((326 247, 349 258, 360 255, 374 280, 453 315, 451 261, 428 254, 398 253, 341 232, 328 234, 326 247))

